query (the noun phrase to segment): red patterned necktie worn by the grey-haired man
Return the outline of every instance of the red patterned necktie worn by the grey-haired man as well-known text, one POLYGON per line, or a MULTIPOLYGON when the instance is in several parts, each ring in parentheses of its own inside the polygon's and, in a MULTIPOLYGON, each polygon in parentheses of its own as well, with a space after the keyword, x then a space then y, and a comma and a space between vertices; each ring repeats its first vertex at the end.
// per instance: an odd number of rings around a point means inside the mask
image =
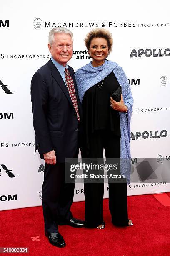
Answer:
POLYGON ((65 68, 64 72, 65 72, 65 82, 66 82, 66 85, 67 85, 67 89, 68 89, 68 92, 70 94, 72 104, 75 108, 75 111, 76 111, 76 114, 77 114, 77 119, 80 122, 80 116, 79 116, 79 113, 78 113, 77 98, 76 98, 76 94, 75 94, 74 83, 72 81, 72 77, 70 75, 70 72, 68 71, 67 68, 65 68))

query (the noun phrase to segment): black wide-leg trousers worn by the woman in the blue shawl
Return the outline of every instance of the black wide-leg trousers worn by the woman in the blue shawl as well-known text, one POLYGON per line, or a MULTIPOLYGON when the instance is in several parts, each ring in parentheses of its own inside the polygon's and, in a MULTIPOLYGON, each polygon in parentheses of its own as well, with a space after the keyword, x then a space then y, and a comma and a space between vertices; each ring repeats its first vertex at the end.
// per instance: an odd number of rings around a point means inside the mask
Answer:
MULTIPOLYGON (((99 130, 91 134, 89 138, 90 152, 87 155, 82 148, 83 159, 103 158, 103 148, 106 159, 120 159, 120 137, 115 136, 112 131, 99 130)), ((112 223, 118 226, 128 225, 128 203, 127 184, 109 184, 109 210, 112 216, 112 223)), ((102 201, 104 193, 104 183, 84 183, 85 193, 85 225, 95 228, 103 221, 102 201)))

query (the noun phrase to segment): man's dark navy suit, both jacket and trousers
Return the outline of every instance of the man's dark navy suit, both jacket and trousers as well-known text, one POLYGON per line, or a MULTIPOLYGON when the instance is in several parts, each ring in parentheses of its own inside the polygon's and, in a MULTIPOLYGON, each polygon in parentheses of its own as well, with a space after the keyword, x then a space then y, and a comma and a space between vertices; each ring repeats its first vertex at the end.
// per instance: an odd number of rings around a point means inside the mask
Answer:
MULTIPOLYGON (((80 120, 82 110, 77 93, 74 70, 68 66, 73 79, 80 120)), ((65 183, 65 158, 77 158, 80 147, 80 123, 67 87, 52 61, 37 70, 31 81, 32 112, 35 129, 35 151, 40 157, 55 150, 57 164, 45 164, 42 185, 42 207, 45 230, 54 233, 58 224, 72 217, 70 207, 74 184, 65 183)))

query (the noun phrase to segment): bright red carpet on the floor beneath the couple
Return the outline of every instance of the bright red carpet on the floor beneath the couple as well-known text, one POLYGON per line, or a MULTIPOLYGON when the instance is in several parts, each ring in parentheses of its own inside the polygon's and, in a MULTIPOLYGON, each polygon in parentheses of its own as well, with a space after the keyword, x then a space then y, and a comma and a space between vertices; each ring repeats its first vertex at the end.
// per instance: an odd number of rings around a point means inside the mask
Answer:
MULTIPOLYGON (((170 197, 170 192, 167 195, 170 197)), ((65 248, 57 248, 47 241, 42 207, 1 211, 0 247, 29 247, 29 254, 22 255, 30 256, 170 255, 170 207, 163 206, 153 195, 130 196, 128 205, 132 227, 112 225, 107 199, 103 203, 104 230, 60 226, 65 248)), ((75 218, 83 218, 84 202, 73 203, 72 212, 75 218)))

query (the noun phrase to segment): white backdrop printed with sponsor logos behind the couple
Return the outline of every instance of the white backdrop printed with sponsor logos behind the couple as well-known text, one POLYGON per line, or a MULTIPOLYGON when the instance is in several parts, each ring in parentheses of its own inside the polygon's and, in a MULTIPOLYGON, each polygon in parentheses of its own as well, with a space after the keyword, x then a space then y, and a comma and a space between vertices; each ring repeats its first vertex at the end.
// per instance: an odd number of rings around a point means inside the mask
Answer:
MULTIPOLYGON (((158 5, 132 0, 0 3, 0 210, 42 204, 44 162, 34 155, 30 81, 50 59, 48 33, 55 26, 74 33, 69 64, 75 70, 90 61, 84 45, 90 29, 112 32, 108 59, 123 67, 134 97, 133 166, 140 158, 153 158, 160 165, 170 161, 169 10, 169 1, 164 0, 158 5)), ((149 167, 153 174, 158 166, 149 167)), ((167 191, 166 179, 128 185, 128 195, 167 191)), ((74 200, 84 200, 82 184, 76 184, 74 200)))

